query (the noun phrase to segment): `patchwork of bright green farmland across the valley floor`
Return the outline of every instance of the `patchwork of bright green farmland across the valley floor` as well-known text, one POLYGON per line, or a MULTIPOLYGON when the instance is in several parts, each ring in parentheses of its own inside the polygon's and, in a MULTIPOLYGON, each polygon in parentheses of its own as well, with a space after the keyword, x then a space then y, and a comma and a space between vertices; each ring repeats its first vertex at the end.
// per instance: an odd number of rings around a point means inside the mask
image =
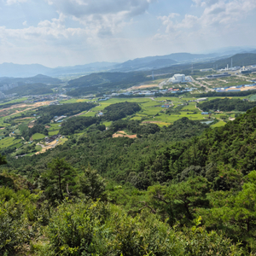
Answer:
MULTIPOLYGON (((144 84, 147 85, 147 84, 144 84)), ((151 85, 151 84, 149 84, 151 85)), ((217 99, 222 97, 211 97, 207 100, 217 99)), ((229 97, 232 98, 232 97, 229 97)), ((241 97, 233 97, 240 99, 248 99, 250 101, 255 101, 255 95, 251 96, 241 96, 241 97)), ((24 98, 22 98, 24 99, 24 98)), ((142 124, 156 124, 160 127, 172 125, 173 122, 178 119, 182 119, 186 117, 191 120, 199 120, 199 121, 214 121, 212 122, 212 128, 219 127, 225 125, 230 119, 235 119, 236 115, 240 112, 230 112, 230 113, 211 113, 203 115, 201 114, 201 110, 196 108, 197 102, 195 102, 196 98, 193 95, 188 96, 160 96, 160 97, 129 97, 129 98, 110 98, 106 101, 99 102, 97 98, 93 99, 83 99, 83 98, 73 98, 67 101, 62 100, 61 104, 70 104, 70 103, 78 103, 78 102, 96 102, 96 106, 90 108, 90 110, 83 111, 81 113, 76 114, 75 116, 81 117, 96 117, 100 112, 104 112, 104 109, 108 106, 120 103, 120 102, 136 102, 141 110, 137 113, 133 113, 124 119, 138 120, 142 124)), ((19 102, 19 100, 16 100, 19 102)), ((9 102, 5 102, 9 103, 9 102)), ((14 102, 10 102, 14 103, 14 102)), ((0 130, 0 137, 2 137, 0 146, 2 150, 9 150, 8 148, 12 148, 11 152, 16 150, 16 153, 12 153, 12 155, 16 155, 18 153, 28 152, 28 154, 35 154, 36 152, 44 152, 46 148, 42 151, 42 148, 33 146, 32 149, 27 149, 25 147, 26 141, 23 140, 21 134, 28 129, 28 127, 33 127, 38 119, 37 113, 38 107, 42 105, 47 105, 49 102, 36 103, 36 104, 25 104, 18 103, 12 105, 9 108, 3 108, 2 113, 4 116, 0 117, 0 126, 2 127, 0 130), (25 147, 25 148, 24 148, 25 147), (16 149, 15 149, 16 148, 16 149), (22 149, 20 149, 22 148, 22 149)), ((75 117, 73 117, 75 118, 75 117)), ((68 117, 67 117, 68 119, 68 117)), ((107 120, 102 120, 102 125, 109 127, 112 122, 107 120)), ((48 136, 52 137, 59 134, 61 129, 61 123, 49 123, 45 125, 46 130, 48 131, 48 136)), ((79 137, 84 134, 84 131, 77 131, 75 136, 79 137)), ((129 134, 130 135, 130 134, 129 134)), ((120 133, 116 134, 116 137, 122 136, 120 133)), ((41 141, 46 137, 42 133, 35 133, 30 137, 33 141, 41 141)), ((68 137, 62 139, 58 142, 58 144, 65 143, 68 137)), ((33 143, 32 143, 33 145, 33 143)), ((50 148, 50 147, 49 147, 50 148)), ((4 152, 5 152, 4 151, 4 152)))

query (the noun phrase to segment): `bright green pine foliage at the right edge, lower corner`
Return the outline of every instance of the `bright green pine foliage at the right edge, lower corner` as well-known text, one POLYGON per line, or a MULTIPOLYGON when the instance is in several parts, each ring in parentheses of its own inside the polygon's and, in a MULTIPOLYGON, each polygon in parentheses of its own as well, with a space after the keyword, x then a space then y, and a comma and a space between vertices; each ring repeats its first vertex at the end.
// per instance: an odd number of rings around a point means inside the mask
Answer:
MULTIPOLYGON (((234 177, 235 178, 235 177, 234 177)), ((230 181, 231 182, 231 181, 230 181)), ((241 190, 218 191, 208 195, 212 209, 200 212, 208 227, 222 229, 235 241, 256 252, 256 172, 250 172, 241 190), (239 236, 237 236, 239 234, 239 236)))

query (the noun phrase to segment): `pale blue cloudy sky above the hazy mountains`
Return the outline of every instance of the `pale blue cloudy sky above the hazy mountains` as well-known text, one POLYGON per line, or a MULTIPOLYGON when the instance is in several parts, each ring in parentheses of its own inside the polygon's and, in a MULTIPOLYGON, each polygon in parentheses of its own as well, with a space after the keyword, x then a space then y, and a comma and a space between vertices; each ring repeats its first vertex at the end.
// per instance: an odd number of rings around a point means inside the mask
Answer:
POLYGON ((0 0, 0 63, 47 67, 256 48, 256 0, 0 0))

